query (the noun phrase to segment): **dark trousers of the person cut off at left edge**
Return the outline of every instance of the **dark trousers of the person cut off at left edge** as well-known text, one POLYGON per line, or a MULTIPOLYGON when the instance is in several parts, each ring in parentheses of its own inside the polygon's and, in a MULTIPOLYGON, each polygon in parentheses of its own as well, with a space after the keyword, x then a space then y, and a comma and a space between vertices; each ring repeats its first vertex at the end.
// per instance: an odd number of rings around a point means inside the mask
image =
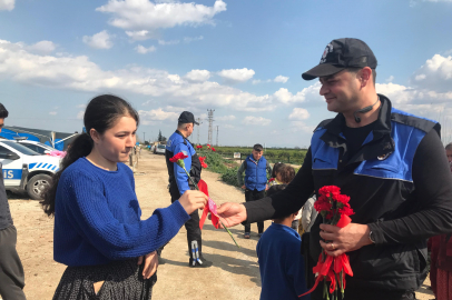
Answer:
POLYGON ((24 273, 16 243, 14 226, 0 230, 0 296, 3 300, 26 299, 24 273))

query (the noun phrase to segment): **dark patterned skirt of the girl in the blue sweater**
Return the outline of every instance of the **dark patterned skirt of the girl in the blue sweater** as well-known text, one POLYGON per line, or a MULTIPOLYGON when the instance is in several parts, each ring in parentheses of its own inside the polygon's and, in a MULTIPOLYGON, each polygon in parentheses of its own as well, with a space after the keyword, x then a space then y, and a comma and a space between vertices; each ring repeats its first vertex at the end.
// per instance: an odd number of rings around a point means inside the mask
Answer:
POLYGON ((68 267, 55 292, 53 300, 150 300, 157 272, 143 278, 137 259, 102 266, 68 267), (96 294, 94 283, 105 281, 96 294))

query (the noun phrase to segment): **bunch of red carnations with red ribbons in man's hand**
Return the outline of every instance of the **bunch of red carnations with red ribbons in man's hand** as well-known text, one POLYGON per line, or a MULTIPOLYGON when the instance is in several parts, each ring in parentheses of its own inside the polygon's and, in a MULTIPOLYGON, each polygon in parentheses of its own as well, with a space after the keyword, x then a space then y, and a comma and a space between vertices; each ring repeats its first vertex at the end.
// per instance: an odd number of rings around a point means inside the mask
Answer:
MULTIPOLYGON (((352 222, 350 216, 354 214, 354 211, 348 203, 350 197, 341 194, 338 187, 325 186, 318 190, 318 194, 320 197, 315 201, 314 208, 322 216, 324 224, 344 228, 352 222)), ((326 300, 338 299, 338 292, 344 297, 345 274, 353 276, 347 254, 342 253, 338 257, 332 257, 325 250, 322 250, 313 272, 317 276, 317 279, 314 287, 304 294, 313 292, 323 280, 323 298, 326 300), (326 281, 330 281, 330 289, 326 281)))

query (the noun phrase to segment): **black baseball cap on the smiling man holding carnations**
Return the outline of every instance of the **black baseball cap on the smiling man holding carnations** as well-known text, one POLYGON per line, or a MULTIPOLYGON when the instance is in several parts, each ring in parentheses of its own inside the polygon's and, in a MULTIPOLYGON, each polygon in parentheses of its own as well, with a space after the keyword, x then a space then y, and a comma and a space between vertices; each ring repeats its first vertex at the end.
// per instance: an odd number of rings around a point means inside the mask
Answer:
POLYGON ((376 68, 376 58, 371 48, 358 39, 337 39, 331 41, 323 51, 321 62, 302 74, 304 80, 332 76, 346 68, 376 68))

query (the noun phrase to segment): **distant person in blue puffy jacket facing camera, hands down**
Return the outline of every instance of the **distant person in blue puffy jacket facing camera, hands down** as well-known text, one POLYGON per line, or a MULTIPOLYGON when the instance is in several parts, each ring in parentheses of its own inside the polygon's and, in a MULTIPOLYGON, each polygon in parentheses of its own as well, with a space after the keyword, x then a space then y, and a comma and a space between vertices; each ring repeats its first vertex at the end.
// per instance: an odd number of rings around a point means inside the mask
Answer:
MULTIPOLYGON (((272 167, 264 157, 264 148, 261 143, 253 146, 252 153, 244 160, 237 171, 238 184, 245 190, 245 201, 255 201, 265 197, 267 186, 267 172, 272 174, 272 167), (245 182, 243 173, 245 172, 245 182)), ((264 222, 257 222, 258 237, 264 232, 264 222)), ((245 239, 250 238, 252 227, 245 224, 245 239)))

